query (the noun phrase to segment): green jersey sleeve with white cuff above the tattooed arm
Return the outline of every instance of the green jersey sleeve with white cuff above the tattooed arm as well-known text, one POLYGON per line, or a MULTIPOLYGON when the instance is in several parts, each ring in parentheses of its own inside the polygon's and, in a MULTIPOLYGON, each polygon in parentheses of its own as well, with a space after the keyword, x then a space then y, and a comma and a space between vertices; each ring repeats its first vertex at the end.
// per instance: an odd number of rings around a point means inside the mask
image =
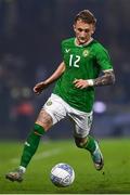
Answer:
POLYGON ((100 48, 96 51, 96 63, 101 70, 113 70, 113 64, 106 49, 100 48))

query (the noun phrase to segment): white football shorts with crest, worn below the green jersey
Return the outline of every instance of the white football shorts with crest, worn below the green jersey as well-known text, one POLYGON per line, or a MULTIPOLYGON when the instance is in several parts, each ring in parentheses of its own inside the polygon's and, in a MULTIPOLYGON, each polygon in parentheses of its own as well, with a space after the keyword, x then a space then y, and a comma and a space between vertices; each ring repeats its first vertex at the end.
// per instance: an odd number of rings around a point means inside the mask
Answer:
POLYGON ((86 138, 89 134, 92 125, 92 112, 84 113, 69 106, 63 99, 56 94, 51 94, 43 109, 52 117, 53 125, 69 116, 75 122, 74 135, 86 138))

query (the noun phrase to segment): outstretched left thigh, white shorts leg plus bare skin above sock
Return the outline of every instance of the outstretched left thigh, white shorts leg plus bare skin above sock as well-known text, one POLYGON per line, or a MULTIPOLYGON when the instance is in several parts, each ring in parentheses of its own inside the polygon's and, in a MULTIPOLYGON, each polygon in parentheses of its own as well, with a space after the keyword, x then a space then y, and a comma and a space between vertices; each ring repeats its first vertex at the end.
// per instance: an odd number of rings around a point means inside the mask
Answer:
POLYGON ((65 118, 65 116, 66 109, 61 98, 52 94, 43 105, 39 114, 38 120, 40 119, 43 125, 46 122, 46 127, 47 129, 49 129, 51 126, 65 118))

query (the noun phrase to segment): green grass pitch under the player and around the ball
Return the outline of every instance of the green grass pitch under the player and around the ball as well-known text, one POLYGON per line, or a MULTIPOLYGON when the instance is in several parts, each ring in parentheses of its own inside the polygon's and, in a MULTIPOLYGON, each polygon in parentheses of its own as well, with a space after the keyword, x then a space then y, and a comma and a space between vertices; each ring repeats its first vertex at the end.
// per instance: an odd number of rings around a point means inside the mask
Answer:
POLYGON ((23 143, 0 143, 0 194, 130 194, 130 141, 100 143, 105 160, 103 171, 96 171, 90 154, 77 148, 73 141, 41 141, 22 183, 5 180, 4 176, 17 167, 23 143), (50 171, 57 162, 73 166, 73 185, 56 187, 51 183, 50 171))

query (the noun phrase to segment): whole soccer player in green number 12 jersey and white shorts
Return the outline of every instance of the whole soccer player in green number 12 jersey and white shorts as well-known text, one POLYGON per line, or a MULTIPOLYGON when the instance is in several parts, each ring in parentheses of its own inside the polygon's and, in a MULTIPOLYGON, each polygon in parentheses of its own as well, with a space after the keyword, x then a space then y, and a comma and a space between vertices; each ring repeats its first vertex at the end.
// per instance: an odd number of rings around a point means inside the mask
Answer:
POLYGON ((107 50, 92 38, 96 18, 89 10, 79 12, 74 21, 76 37, 62 41, 63 62, 47 80, 37 83, 34 92, 40 94, 52 82, 54 90, 41 108, 34 129, 25 142, 21 164, 5 178, 23 180, 26 168, 36 153, 40 138, 53 125, 69 116, 75 122, 74 138, 78 147, 90 152, 94 167, 104 165, 99 143, 89 135, 92 123, 94 88, 113 84, 115 75, 107 50))

